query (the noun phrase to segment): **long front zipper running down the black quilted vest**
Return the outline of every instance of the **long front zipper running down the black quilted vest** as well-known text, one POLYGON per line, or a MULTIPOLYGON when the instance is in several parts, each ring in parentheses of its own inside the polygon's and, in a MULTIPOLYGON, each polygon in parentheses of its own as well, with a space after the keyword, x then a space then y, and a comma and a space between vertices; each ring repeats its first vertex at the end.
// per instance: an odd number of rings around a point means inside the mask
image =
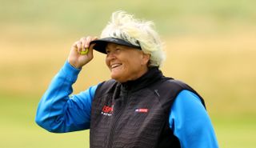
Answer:
POLYGON ((113 142, 114 142, 114 131, 116 129, 116 125, 118 125, 118 122, 120 120, 120 117, 122 115, 122 112, 123 110, 126 109, 126 102, 127 102, 127 99, 128 99, 128 92, 126 93, 126 95, 123 96, 123 103, 122 103, 122 106, 121 106, 121 110, 118 111, 118 114, 116 116, 116 118, 114 119, 114 122, 111 126, 111 130, 110 130, 110 139, 109 139, 109 143, 108 143, 108 146, 107 148, 112 148, 113 146, 113 142))

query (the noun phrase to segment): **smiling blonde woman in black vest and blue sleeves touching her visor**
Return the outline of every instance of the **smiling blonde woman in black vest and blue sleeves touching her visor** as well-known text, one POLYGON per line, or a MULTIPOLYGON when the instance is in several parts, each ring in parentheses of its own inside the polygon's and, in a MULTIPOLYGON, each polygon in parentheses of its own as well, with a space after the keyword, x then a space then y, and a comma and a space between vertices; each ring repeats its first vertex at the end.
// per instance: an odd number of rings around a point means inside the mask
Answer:
POLYGON ((118 11, 100 39, 75 42, 39 102, 38 125, 55 133, 90 129, 92 148, 218 147, 202 97, 159 70, 165 56, 152 26, 118 11), (70 96, 94 50, 106 54, 111 79, 70 96))

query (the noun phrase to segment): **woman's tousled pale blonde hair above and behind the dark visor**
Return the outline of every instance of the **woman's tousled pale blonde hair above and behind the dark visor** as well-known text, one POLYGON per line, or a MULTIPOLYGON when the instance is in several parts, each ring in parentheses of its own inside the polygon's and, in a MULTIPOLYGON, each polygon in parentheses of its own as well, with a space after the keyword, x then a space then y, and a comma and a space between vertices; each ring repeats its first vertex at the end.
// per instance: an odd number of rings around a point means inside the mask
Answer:
POLYGON ((125 11, 116 11, 102 30, 101 38, 120 38, 134 46, 141 46, 145 54, 150 54, 149 66, 161 66, 166 56, 158 33, 153 28, 153 22, 144 22, 125 11))

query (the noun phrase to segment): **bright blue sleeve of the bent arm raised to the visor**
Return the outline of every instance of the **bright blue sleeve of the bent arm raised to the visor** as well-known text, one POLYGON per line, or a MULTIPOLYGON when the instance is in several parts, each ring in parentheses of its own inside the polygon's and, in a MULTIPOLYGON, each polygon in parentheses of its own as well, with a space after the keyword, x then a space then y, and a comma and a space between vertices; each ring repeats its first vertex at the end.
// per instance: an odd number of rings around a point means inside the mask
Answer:
POLYGON ((66 62, 55 75, 38 104, 35 121, 39 126, 54 133, 90 128, 91 102, 97 86, 70 95, 79 72, 66 62))

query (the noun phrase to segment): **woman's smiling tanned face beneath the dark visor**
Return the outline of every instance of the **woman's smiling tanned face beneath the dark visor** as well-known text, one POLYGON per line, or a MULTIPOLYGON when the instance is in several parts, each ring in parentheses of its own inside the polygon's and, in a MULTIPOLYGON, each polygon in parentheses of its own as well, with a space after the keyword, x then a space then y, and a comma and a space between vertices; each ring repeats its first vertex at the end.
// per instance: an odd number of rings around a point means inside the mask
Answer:
POLYGON ((106 66, 111 78, 118 82, 135 80, 148 70, 149 54, 129 46, 108 43, 106 46, 106 66))

